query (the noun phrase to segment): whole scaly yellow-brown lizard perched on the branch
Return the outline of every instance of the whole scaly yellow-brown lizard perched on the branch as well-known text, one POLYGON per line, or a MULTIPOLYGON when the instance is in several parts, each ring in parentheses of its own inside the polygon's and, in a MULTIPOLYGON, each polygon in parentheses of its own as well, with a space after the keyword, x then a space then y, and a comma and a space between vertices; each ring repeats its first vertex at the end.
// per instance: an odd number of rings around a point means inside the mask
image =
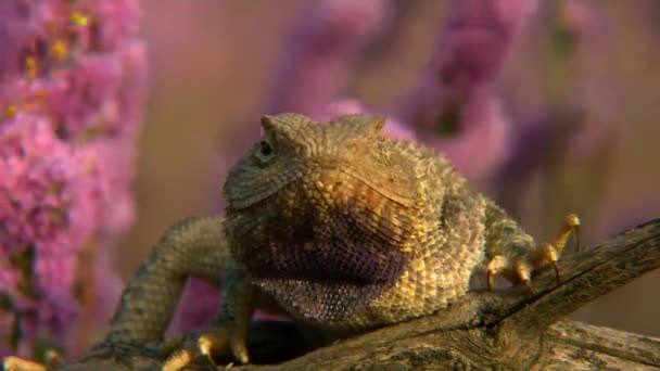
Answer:
POLYGON ((551 266, 559 281, 556 261, 578 236, 576 215, 554 241, 537 243, 444 154, 386 137, 384 123, 369 114, 263 116, 262 138, 228 172, 224 215, 165 232, 105 337, 78 362, 116 344, 161 341, 188 277, 221 286, 220 309, 168 354, 163 371, 224 349, 248 363, 257 307, 353 334, 442 310, 478 274, 488 290, 502 276, 533 293, 533 276, 551 266))

